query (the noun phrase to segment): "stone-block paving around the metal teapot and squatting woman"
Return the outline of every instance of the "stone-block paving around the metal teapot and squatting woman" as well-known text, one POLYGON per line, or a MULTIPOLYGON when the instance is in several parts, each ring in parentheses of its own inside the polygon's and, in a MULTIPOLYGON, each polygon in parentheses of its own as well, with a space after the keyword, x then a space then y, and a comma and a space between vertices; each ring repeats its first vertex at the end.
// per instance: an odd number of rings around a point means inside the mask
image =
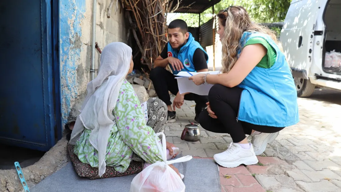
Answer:
MULTIPOLYGON (((258 164, 220 167, 222 192, 341 191, 341 92, 316 89, 310 98, 298 98, 298 104, 300 122, 280 131, 258 156, 258 164)), ((211 158, 226 150, 232 138, 200 128, 200 141, 182 141, 184 126, 194 119, 194 105, 185 101, 177 109, 177 121, 167 123, 166 139, 184 155, 211 158)))

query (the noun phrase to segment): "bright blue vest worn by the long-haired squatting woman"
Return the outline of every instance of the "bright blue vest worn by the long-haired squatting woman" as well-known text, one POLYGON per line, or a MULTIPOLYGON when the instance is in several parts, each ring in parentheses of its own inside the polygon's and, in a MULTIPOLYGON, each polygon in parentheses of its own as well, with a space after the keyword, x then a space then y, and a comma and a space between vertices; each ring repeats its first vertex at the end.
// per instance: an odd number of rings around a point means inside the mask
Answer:
MULTIPOLYGON (((297 92, 284 54, 270 36, 244 32, 241 47, 252 38, 265 39, 276 51, 277 58, 269 69, 255 67, 238 85, 244 89, 240 96, 237 119, 257 125, 288 127, 299 121, 297 92)), ((238 57, 241 49, 238 50, 238 57)))

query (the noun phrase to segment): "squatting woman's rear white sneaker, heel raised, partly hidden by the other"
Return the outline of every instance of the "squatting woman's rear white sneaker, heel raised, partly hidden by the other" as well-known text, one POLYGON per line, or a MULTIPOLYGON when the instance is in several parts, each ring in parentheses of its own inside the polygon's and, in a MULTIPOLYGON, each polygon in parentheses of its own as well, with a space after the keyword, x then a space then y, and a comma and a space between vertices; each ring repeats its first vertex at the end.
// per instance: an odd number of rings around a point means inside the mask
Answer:
POLYGON ((256 155, 262 154, 266 145, 276 139, 279 132, 276 133, 253 133, 251 134, 251 144, 256 155))

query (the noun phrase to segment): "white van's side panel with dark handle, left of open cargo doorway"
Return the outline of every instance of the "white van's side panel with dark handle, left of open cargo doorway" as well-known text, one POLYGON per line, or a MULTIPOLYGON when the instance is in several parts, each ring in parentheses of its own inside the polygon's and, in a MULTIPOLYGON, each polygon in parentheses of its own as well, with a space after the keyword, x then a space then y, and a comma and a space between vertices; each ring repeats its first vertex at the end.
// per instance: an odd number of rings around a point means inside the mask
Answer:
POLYGON ((293 0, 286 14, 280 40, 295 77, 308 79, 319 5, 325 1, 293 0))

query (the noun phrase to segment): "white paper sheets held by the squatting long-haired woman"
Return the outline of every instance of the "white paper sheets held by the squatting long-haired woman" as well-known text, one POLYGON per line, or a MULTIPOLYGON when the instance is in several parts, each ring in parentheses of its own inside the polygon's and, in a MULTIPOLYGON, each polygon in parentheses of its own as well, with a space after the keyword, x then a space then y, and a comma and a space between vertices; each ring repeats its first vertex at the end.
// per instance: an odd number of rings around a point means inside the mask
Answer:
MULTIPOLYGON (((190 72, 193 75, 199 74, 199 73, 209 73, 209 74, 218 74, 219 71, 209 71, 209 72, 190 72)), ((178 88, 179 93, 195 93, 198 95, 208 95, 208 92, 210 91, 212 84, 201 84, 201 85, 195 85, 192 80, 189 80, 188 77, 191 75, 186 71, 179 72, 175 77, 178 81, 178 88)))

